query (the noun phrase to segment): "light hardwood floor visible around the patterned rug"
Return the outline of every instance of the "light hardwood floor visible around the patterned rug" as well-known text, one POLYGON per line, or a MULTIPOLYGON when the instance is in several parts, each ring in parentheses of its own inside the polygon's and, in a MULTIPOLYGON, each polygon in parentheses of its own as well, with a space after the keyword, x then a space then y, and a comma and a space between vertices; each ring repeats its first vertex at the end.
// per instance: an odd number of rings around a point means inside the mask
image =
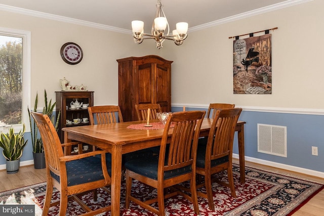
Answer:
MULTIPOLYGON (((233 159, 234 162, 238 163, 237 159, 233 159)), ((319 184, 324 184, 324 179, 300 174, 297 172, 278 169, 276 167, 270 167, 262 164, 252 163, 246 161, 247 166, 275 172, 277 174, 293 175, 296 178, 305 178, 319 184)), ((21 188, 28 185, 46 182, 46 169, 34 169, 33 165, 21 166, 19 172, 16 174, 7 174, 6 170, 0 170, 0 192, 12 190, 15 188, 21 188)), ((319 216, 323 215, 324 212, 324 190, 316 194, 310 199, 303 207, 301 207, 293 216, 319 216)))

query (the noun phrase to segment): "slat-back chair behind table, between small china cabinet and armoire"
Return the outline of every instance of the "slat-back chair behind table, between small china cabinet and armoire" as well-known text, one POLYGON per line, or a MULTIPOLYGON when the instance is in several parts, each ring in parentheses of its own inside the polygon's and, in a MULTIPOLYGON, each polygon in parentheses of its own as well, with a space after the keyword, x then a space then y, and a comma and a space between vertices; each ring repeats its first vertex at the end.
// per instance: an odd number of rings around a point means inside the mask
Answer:
MULTIPOLYGON (((105 105, 105 106, 92 106, 88 107, 89 121, 91 125, 94 124, 111 124, 117 122, 123 122, 123 115, 119 106, 117 105, 105 105), (117 118, 118 116, 118 118, 117 118)), ((122 163, 127 160, 132 160, 139 157, 146 157, 153 154, 150 149, 142 149, 135 152, 123 154, 122 163)), ((106 154, 106 159, 111 163, 111 154, 106 154)))

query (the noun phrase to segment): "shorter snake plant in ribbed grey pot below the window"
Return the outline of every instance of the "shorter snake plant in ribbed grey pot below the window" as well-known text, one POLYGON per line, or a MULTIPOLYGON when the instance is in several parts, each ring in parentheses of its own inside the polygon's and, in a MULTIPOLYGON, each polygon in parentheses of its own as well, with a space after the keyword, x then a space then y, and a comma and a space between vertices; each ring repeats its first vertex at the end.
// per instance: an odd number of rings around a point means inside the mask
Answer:
POLYGON ((8 174, 14 174, 19 171, 19 162, 24 147, 28 140, 24 139, 25 125, 23 131, 15 134, 14 128, 9 128, 9 133, 1 132, 0 147, 3 148, 2 154, 6 158, 6 169, 8 174))

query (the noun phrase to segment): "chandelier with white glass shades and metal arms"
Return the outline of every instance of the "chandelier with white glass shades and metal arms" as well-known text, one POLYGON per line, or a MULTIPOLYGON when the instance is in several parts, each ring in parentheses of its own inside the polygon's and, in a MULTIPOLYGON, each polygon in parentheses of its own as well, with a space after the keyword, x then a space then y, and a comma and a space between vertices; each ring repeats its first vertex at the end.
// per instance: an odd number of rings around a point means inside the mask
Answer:
POLYGON ((169 35, 170 27, 166 15, 162 9, 161 1, 157 0, 156 13, 152 24, 151 34, 144 33, 144 22, 139 20, 132 21, 132 29, 135 44, 141 44, 143 39, 154 39, 156 42, 156 48, 163 48, 162 44, 165 39, 174 40, 176 45, 182 45, 183 40, 187 38, 188 23, 178 22, 176 24, 177 29, 172 31, 169 35), (168 27, 168 32, 166 28, 168 27))

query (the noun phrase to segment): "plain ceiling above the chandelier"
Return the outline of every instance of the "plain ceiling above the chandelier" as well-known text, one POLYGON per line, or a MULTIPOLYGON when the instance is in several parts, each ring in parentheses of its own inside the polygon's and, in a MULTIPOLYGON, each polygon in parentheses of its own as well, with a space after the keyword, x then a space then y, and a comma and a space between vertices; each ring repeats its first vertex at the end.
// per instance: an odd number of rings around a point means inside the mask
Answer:
MULTIPOLYGON (((296 0, 161 0, 161 3, 172 30, 177 22, 188 22, 190 29, 292 1, 296 0)), ((27 9, 128 30, 132 28, 132 20, 142 20, 145 32, 150 31, 156 9, 156 0, 0 0, 0 4, 17 7, 12 8, 17 11, 27 9)))

